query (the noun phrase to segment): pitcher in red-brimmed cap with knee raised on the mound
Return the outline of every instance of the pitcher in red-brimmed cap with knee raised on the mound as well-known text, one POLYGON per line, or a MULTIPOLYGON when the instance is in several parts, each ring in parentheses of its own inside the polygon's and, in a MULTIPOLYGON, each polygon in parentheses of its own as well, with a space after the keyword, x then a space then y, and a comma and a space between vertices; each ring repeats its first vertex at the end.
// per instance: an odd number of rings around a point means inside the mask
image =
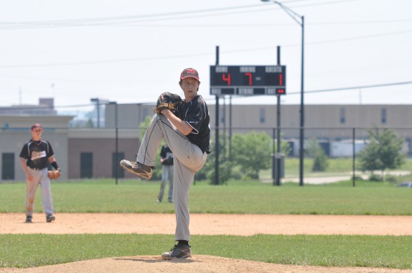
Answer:
POLYGON ((174 239, 178 243, 164 252, 162 259, 192 257, 190 251, 189 188, 194 174, 206 163, 210 153, 209 110, 203 97, 198 95, 199 80, 196 69, 184 69, 179 85, 185 99, 177 106, 176 113, 169 109, 153 117, 141 141, 137 161, 122 160, 120 165, 141 178, 152 177, 157 149, 165 139, 174 154, 173 199, 176 213, 174 239))

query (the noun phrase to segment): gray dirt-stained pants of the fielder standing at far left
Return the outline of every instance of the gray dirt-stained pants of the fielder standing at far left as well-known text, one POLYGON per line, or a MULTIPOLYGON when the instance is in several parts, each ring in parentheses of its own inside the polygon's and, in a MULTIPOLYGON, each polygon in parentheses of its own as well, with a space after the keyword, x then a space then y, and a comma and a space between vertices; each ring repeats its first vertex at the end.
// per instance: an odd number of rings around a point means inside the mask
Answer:
POLYGON ((30 174, 33 176, 33 180, 30 182, 26 180, 26 207, 25 215, 33 216, 34 210, 34 198, 36 198, 37 187, 40 184, 41 186, 41 196, 43 198, 43 209, 47 214, 53 214, 53 200, 52 200, 52 191, 50 187, 50 178, 47 176, 47 168, 44 169, 30 169, 27 167, 27 170, 30 171, 30 174))

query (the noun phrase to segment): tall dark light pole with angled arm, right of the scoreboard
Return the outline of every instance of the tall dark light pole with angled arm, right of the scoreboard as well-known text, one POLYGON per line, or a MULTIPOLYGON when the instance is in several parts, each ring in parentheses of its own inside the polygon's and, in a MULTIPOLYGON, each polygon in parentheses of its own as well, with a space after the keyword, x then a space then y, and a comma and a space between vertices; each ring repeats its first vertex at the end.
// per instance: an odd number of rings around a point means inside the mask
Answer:
POLYGON ((305 16, 300 16, 284 4, 274 0, 260 0, 262 2, 273 2, 279 5, 296 23, 302 27, 302 54, 301 54, 301 108, 300 108, 300 129, 299 129, 299 186, 304 185, 304 33, 305 33, 305 16), (300 19, 300 21, 299 21, 300 19))

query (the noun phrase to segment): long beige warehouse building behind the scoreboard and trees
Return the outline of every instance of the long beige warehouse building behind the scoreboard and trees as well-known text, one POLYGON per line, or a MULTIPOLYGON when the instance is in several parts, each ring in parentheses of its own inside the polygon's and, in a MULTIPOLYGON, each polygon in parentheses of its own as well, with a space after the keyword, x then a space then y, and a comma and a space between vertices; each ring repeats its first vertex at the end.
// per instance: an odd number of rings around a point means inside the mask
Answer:
MULTIPOLYGON (((139 128, 146 116, 152 117, 155 105, 119 104, 117 105, 117 127, 139 128)), ((211 116, 210 126, 216 128, 215 105, 208 105, 211 116)), ((273 135, 277 124, 277 106, 275 105, 220 105, 220 133, 245 133, 251 130, 265 131, 273 135), (231 114, 230 114, 231 113, 231 114), (231 119, 231 121, 230 121, 231 119)), ((282 138, 293 147, 290 155, 299 152, 299 105, 281 106, 282 138)), ((115 105, 106 106, 106 128, 115 128, 115 105)), ((372 128, 396 128, 400 137, 405 139, 405 152, 412 151, 412 105, 361 105, 361 104, 328 104, 305 106, 305 138, 317 139, 327 143, 323 146, 329 156, 339 156, 351 151, 343 151, 347 145, 334 145, 336 142, 352 142, 353 129, 355 139, 364 140, 367 130, 372 128), (327 146, 330 146, 330 149, 327 146), (339 148, 338 148, 339 147, 339 148)), ((358 145, 358 147, 360 147, 358 145)))

